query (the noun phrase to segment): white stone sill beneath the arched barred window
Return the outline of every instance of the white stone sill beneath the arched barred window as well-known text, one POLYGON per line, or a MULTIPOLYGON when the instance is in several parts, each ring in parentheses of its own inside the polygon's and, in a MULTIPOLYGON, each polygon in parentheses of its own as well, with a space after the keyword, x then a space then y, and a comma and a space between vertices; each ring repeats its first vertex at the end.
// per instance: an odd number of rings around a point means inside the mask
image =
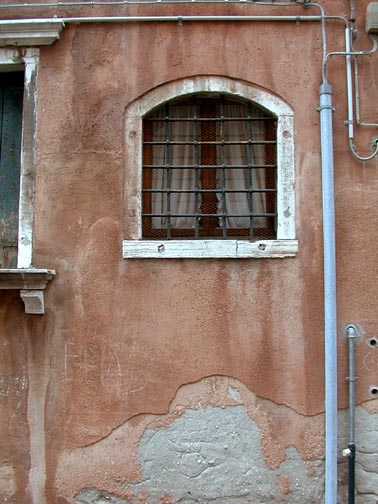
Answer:
POLYGON ((248 259, 293 257, 297 240, 124 240, 124 259, 248 259))

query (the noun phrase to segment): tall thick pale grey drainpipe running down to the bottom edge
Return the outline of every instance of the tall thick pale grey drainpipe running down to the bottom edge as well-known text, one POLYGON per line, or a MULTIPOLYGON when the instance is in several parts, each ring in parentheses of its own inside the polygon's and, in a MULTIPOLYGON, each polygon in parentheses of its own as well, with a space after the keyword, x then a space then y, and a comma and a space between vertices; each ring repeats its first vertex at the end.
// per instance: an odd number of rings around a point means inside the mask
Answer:
POLYGON ((322 157, 324 338, 325 338, 325 504, 337 503, 337 317, 332 87, 320 95, 322 157))

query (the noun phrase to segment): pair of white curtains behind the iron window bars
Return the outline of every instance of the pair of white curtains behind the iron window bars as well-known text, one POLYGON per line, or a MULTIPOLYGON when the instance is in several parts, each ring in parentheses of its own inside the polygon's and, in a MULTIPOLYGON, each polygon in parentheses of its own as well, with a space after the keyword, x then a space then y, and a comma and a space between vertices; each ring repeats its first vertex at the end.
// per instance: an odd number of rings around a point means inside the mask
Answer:
MULTIPOLYGON (((219 106, 219 105, 218 105, 219 106)), ((195 113, 194 105, 188 103, 170 104, 169 117, 172 118, 193 118, 195 113)), ((262 111, 256 107, 251 107, 251 113, 254 117, 263 116, 262 111)), ((226 118, 247 118, 249 115, 248 105, 236 102, 225 102, 223 114, 226 118)), ((218 113, 217 116, 219 117, 218 113)), ((162 107, 155 113, 155 117, 163 119, 166 117, 165 108, 162 107)), ((246 141, 265 140, 264 121, 217 121, 216 137, 217 140, 227 141, 246 141)), ((153 122, 153 140, 165 142, 194 142, 196 137, 200 140, 200 124, 193 121, 156 121, 153 122), (196 131, 197 128, 197 131, 196 131)), ((265 147, 263 145, 248 146, 246 144, 218 146, 216 149, 216 163, 225 164, 231 167, 240 165, 257 165, 265 163, 265 147)), ((152 171, 152 188, 163 190, 162 193, 152 193, 152 213, 166 214, 193 214, 200 212, 200 196, 195 198, 191 193, 171 193, 167 194, 168 189, 190 190, 201 188, 200 174, 196 176, 194 165, 201 164, 200 146, 193 145, 158 145, 153 147, 152 164, 170 166, 169 169, 154 169, 152 171), (174 168, 182 166, 183 168, 174 168), (197 180, 196 180, 197 178, 197 180), (198 187, 196 187, 196 183, 198 187), (169 197, 169 203, 168 203, 169 197), (197 207, 196 208, 196 202, 197 207)), ((209 166, 211 167, 211 166, 209 166)), ((240 169, 218 169, 217 170, 217 188, 228 190, 246 190, 252 185, 253 189, 263 189, 265 187, 264 169, 248 170, 240 169)), ((248 214, 250 210, 254 213, 266 212, 264 193, 254 193, 252 198, 248 193, 226 193, 218 194, 218 211, 226 211, 227 214, 248 214), (225 196, 225 200, 223 199, 225 196)), ((228 217, 226 220, 227 228, 249 228, 249 217, 228 217)), ((171 228, 194 229, 194 217, 172 217, 171 228)), ((222 226, 222 219, 219 219, 219 225, 222 226)), ((153 217, 152 227, 161 229, 167 227, 167 217, 153 217)), ((265 217, 256 217, 253 219, 253 227, 266 227, 265 217)))

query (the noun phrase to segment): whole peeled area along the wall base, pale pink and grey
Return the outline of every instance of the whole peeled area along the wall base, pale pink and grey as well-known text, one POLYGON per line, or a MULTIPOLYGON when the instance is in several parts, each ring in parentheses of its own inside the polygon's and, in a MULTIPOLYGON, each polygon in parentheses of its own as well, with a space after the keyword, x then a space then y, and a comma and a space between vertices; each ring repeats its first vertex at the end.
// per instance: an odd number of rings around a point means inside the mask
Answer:
MULTIPOLYGON (((357 408, 356 504, 378 499, 377 416, 357 408)), ((341 411, 340 454, 347 420, 341 411)), ((56 485, 68 504, 315 504, 324 497, 323 433, 323 415, 301 415, 236 379, 211 376, 183 385, 167 414, 138 415, 65 452, 56 485)), ((340 458, 340 502, 346 469, 340 458)))

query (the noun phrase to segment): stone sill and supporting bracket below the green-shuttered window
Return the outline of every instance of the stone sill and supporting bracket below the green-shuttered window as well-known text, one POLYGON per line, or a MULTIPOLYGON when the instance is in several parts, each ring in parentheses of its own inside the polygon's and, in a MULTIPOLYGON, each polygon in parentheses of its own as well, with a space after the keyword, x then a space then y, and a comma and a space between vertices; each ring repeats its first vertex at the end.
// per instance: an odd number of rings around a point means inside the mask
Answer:
POLYGON ((25 313, 43 315, 43 291, 54 276, 55 271, 49 269, 0 269, 0 290, 19 290, 25 304, 25 313))

